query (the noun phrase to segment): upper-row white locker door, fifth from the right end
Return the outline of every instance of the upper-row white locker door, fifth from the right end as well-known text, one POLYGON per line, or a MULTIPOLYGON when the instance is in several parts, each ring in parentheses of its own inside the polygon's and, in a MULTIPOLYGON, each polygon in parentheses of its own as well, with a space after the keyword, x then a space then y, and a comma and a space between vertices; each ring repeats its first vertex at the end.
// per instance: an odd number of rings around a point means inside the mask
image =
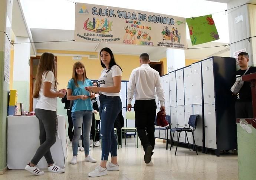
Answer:
POLYGON ((176 72, 169 73, 170 105, 177 106, 176 72))

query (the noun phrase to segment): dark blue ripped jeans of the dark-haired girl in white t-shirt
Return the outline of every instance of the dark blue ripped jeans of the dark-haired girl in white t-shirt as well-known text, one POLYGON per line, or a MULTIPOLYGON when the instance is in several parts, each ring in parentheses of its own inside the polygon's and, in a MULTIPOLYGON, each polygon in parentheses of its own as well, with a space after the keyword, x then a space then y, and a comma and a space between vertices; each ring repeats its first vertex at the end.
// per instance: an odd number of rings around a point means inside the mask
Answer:
POLYGON ((114 123, 118 113, 122 109, 122 102, 119 96, 99 96, 101 106, 99 116, 101 117, 101 140, 102 151, 101 160, 108 160, 109 152, 111 157, 117 156, 117 142, 114 133, 114 123))

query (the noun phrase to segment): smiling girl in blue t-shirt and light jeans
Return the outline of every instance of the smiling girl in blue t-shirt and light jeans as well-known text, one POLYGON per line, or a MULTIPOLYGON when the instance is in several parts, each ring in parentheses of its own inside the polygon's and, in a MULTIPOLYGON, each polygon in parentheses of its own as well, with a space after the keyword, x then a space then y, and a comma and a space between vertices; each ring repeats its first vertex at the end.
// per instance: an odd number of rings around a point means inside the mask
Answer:
POLYGON ((68 82, 67 99, 74 100, 72 107, 72 121, 74 125, 74 136, 72 140, 73 157, 70 164, 76 164, 78 141, 83 127, 83 144, 85 148, 85 161, 95 163, 96 160, 89 155, 90 130, 92 126, 92 105, 91 100, 94 93, 85 90, 85 87, 92 86, 92 81, 87 78, 85 66, 81 62, 73 65, 72 79, 68 82), (83 125, 83 126, 82 126, 83 125))

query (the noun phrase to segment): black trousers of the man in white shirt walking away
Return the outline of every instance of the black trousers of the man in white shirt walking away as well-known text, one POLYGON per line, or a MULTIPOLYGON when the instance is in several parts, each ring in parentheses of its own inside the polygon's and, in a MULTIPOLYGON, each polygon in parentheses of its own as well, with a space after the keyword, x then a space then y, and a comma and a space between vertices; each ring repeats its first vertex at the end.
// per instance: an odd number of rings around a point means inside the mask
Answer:
POLYGON ((155 100, 136 100, 134 104, 135 125, 144 151, 151 145, 155 147, 155 100))

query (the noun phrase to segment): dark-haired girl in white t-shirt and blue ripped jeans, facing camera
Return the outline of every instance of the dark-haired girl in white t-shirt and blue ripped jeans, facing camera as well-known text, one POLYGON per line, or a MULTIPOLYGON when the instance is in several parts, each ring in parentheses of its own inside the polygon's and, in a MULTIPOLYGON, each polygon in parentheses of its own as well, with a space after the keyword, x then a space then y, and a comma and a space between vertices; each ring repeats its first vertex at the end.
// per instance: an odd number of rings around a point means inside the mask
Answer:
POLYGON ((99 116, 101 117, 101 140, 102 153, 101 163, 94 171, 89 173, 90 177, 104 176, 108 171, 118 171, 117 141, 114 134, 114 123, 118 113, 122 109, 119 92, 121 89, 122 69, 115 63, 112 51, 105 47, 100 52, 101 66, 104 68, 99 77, 100 87, 86 87, 86 90, 100 92, 99 116), (108 155, 111 154, 111 162, 106 165, 108 155))

